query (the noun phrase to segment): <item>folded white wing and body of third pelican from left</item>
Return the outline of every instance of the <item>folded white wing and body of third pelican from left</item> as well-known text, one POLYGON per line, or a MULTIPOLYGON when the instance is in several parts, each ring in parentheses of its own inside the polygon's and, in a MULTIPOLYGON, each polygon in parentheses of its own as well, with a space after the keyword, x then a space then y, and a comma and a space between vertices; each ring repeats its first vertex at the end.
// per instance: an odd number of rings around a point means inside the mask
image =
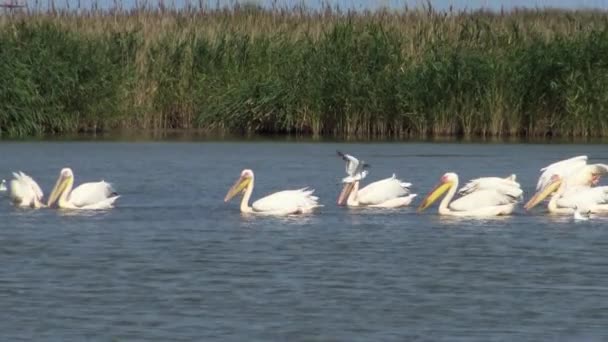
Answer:
POLYGON ((275 192, 253 202, 251 206, 257 212, 296 213, 319 206, 318 197, 313 196, 314 190, 302 188, 275 192))

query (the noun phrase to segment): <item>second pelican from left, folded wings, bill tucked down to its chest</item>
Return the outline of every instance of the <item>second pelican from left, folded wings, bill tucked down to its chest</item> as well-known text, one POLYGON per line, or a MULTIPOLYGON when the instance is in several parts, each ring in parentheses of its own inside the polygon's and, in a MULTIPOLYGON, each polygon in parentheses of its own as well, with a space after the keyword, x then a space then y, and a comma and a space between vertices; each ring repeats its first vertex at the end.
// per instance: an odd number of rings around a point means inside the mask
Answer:
POLYGON ((62 209, 109 209, 120 197, 105 181, 83 183, 72 190, 73 186, 72 169, 61 169, 47 205, 50 207, 59 199, 57 206, 62 209))

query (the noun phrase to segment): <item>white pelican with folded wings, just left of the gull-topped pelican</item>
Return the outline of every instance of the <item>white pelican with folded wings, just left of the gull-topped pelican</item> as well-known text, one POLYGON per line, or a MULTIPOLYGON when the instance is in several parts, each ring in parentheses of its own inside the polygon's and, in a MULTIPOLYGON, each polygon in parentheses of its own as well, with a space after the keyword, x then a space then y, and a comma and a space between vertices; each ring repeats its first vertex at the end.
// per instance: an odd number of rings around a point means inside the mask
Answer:
POLYGON ((285 190, 260 198, 249 206, 249 199, 253 193, 254 176, 253 171, 245 169, 241 176, 228 190, 224 202, 228 202, 239 193, 244 193, 241 200, 241 212, 261 215, 293 215, 306 214, 320 207, 317 203, 318 197, 313 196, 314 190, 302 188, 298 190, 285 190))

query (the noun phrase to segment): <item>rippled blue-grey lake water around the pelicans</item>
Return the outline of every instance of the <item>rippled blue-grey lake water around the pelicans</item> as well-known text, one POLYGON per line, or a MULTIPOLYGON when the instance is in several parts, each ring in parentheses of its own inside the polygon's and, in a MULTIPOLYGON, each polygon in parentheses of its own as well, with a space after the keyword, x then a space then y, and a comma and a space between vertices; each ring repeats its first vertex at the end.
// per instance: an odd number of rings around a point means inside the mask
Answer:
MULTIPOLYGON (((19 210, 0 202, 3 340, 605 341, 608 219, 575 222, 543 207, 511 217, 446 219, 336 206, 344 164, 393 172, 424 195, 538 170, 605 145, 2 142, 0 173, 59 170, 104 179, 110 211, 19 210), (303 218, 243 217, 224 195, 243 168, 253 198, 310 186, 325 205, 303 218)), ((605 183, 605 182, 604 182, 605 183)), ((240 199, 240 198, 239 198, 240 199)))

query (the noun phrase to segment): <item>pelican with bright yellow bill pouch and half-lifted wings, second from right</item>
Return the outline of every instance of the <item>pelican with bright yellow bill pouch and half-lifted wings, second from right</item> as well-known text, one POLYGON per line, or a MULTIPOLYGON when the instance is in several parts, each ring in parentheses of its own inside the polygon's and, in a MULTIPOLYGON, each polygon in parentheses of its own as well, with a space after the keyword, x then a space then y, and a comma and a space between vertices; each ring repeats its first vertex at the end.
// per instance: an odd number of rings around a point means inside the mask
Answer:
POLYGON ((444 174, 440 183, 422 201, 418 211, 423 211, 431 206, 443 193, 449 190, 439 204, 440 215, 509 215, 515 209, 515 205, 521 201, 523 195, 519 183, 515 181, 515 175, 507 178, 482 177, 474 179, 460 190, 462 197, 452 201, 457 188, 458 175, 453 172, 444 174), (452 202, 450 203, 450 201, 452 202))

